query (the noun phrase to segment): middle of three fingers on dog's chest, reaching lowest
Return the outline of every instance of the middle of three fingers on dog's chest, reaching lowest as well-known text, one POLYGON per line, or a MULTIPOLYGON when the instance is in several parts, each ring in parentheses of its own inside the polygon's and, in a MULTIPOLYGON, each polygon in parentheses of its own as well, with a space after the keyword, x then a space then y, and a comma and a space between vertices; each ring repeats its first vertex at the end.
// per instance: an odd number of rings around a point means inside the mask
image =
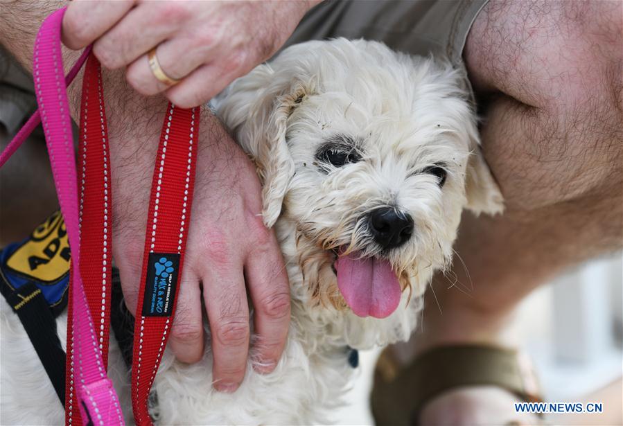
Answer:
POLYGON ((242 265, 211 265, 203 294, 212 337, 214 387, 234 392, 245 377, 249 353, 249 306, 242 265))

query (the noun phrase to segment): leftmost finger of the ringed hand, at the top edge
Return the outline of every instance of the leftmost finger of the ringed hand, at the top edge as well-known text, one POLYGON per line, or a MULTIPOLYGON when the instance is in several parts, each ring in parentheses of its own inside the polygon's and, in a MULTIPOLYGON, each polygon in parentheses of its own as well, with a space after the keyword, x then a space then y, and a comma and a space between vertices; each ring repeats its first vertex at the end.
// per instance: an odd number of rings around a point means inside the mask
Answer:
POLYGON ((79 49, 88 46, 114 26, 134 6, 134 0, 73 0, 62 23, 62 42, 79 49))

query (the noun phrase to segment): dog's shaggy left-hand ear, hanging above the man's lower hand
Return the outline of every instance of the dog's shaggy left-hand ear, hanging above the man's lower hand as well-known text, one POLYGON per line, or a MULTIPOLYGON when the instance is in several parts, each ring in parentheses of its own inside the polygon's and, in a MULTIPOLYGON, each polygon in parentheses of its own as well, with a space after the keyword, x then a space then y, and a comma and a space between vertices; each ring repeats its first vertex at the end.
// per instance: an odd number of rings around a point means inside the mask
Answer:
POLYGON ((295 174, 286 142, 288 118, 306 91, 291 75, 277 73, 268 64, 239 78, 216 100, 216 112, 234 138, 256 163, 263 185, 262 215, 272 227, 281 213, 283 198, 295 174))

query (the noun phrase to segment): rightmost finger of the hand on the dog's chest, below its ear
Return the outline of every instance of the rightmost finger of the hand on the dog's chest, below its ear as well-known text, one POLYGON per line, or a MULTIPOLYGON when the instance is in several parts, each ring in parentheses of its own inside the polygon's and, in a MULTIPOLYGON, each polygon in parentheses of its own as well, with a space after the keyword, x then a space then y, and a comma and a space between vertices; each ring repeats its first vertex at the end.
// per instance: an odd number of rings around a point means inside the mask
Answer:
MULTIPOLYGON (((263 225, 261 225, 263 226, 263 225)), ((272 231, 267 240, 251 251, 245 276, 254 306, 255 369, 270 373, 277 366, 288 337, 290 324, 290 286, 283 257, 272 231)))

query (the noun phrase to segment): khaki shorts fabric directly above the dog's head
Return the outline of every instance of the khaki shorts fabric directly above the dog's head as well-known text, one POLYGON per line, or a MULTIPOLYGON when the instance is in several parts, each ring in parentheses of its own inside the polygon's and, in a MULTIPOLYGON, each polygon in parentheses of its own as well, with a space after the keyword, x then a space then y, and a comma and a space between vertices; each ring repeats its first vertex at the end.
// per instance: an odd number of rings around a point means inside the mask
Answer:
MULTIPOLYGON (((412 55, 462 59, 469 30, 489 0, 326 0, 302 19, 286 47, 310 39, 346 37, 384 42, 412 55)), ((473 91, 467 78, 466 86, 473 91)))

